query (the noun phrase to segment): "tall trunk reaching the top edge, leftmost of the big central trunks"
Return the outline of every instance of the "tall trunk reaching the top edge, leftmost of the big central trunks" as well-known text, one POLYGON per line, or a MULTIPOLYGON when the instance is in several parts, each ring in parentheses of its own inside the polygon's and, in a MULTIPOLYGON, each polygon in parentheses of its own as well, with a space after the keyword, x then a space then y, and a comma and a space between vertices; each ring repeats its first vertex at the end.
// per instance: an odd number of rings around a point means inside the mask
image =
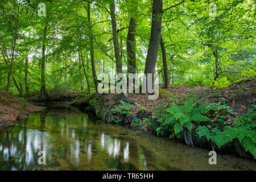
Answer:
POLYGON ((111 24, 113 32, 113 44, 114 44, 114 53, 115 53, 115 67, 117 73, 122 73, 122 61, 120 60, 118 39, 117 39, 117 22, 115 20, 115 1, 112 0, 110 4, 110 13, 111 13, 111 24))

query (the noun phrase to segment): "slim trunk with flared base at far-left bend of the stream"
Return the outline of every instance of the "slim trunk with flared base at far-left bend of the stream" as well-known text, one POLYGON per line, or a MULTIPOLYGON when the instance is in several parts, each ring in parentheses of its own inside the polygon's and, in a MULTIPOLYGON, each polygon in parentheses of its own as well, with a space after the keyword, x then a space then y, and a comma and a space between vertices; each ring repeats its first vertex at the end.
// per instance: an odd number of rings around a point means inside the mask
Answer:
POLYGON ((42 46, 42 61, 41 61, 41 97, 44 100, 49 100, 49 93, 46 89, 46 34, 48 22, 44 25, 43 31, 43 46, 42 46))

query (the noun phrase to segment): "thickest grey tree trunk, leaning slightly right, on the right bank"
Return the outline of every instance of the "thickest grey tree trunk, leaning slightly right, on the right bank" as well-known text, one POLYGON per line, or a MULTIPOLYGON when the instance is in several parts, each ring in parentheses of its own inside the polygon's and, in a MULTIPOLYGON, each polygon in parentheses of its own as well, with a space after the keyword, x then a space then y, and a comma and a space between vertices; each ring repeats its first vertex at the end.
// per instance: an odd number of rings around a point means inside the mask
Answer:
POLYGON ((159 44, 161 40, 162 14, 163 14, 163 0, 154 0, 150 44, 148 46, 146 66, 144 71, 146 76, 148 73, 152 73, 152 85, 154 85, 155 65, 156 65, 156 59, 158 56, 159 44))

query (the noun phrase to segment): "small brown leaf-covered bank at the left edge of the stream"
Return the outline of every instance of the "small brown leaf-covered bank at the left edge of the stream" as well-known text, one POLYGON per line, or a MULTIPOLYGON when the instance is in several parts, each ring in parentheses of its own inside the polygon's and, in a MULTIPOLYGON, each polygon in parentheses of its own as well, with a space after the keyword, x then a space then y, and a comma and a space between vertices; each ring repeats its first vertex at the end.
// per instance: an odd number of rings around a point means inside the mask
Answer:
POLYGON ((28 114, 42 110, 44 107, 27 103, 22 97, 12 96, 0 90, 0 129, 15 125, 28 114))

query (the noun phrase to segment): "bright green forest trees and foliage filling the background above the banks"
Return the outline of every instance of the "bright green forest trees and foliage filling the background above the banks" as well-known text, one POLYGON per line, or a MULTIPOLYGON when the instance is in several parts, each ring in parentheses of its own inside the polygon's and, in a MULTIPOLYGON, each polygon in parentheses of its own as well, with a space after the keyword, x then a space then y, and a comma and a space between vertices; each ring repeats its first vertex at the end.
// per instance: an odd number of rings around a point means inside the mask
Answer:
POLYGON ((0 2, 0 89, 14 94, 97 92, 102 72, 221 88, 255 64, 252 0, 0 2))

